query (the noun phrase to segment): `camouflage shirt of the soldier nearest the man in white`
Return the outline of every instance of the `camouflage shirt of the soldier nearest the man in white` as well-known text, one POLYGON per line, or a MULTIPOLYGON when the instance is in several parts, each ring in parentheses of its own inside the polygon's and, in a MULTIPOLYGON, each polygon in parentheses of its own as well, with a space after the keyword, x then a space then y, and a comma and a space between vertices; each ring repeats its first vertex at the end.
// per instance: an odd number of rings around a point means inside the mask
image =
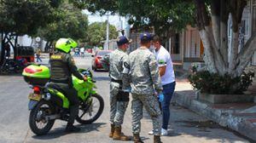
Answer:
POLYGON ((132 94, 154 94, 162 90, 155 56, 149 49, 139 48, 129 54, 132 94))

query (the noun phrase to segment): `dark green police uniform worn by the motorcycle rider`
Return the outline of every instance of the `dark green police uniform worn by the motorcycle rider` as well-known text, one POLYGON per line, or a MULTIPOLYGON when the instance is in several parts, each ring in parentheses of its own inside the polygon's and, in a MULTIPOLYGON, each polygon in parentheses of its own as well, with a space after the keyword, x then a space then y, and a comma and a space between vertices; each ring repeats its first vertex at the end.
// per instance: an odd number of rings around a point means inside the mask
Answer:
POLYGON ((79 113, 79 97, 76 89, 73 88, 72 74, 81 80, 84 80, 84 77, 78 72, 73 57, 69 53, 58 51, 50 56, 49 62, 51 70, 49 86, 54 85, 65 92, 70 102, 68 124, 73 125, 79 113))

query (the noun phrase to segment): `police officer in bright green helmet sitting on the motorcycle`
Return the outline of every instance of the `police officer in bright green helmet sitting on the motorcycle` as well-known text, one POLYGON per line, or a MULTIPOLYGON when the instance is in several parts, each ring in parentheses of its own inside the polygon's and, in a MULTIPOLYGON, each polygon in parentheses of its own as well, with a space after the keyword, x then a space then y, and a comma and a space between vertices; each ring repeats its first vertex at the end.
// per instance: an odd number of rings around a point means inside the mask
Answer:
POLYGON ((80 80, 87 80, 86 77, 78 72, 78 68, 75 66, 73 57, 70 54, 70 50, 77 47, 77 45, 78 43, 71 38, 60 38, 55 44, 56 53, 52 54, 49 59, 51 70, 49 86, 65 92, 64 94, 70 102, 67 132, 80 130, 78 127, 73 126, 74 120, 79 113, 79 97, 76 89, 73 88, 72 74, 80 80))

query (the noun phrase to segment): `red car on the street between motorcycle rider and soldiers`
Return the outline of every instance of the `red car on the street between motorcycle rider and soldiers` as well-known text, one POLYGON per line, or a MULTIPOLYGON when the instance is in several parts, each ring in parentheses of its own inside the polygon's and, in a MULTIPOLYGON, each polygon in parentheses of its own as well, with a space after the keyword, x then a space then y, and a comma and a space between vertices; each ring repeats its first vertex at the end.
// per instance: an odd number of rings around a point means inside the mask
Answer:
POLYGON ((96 54, 94 55, 94 58, 92 59, 92 70, 97 71, 99 69, 104 69, 102 66, 102 60, 103 56, 105 54, 110 54, 111 50, 98 50, 96 51, 96 54))

